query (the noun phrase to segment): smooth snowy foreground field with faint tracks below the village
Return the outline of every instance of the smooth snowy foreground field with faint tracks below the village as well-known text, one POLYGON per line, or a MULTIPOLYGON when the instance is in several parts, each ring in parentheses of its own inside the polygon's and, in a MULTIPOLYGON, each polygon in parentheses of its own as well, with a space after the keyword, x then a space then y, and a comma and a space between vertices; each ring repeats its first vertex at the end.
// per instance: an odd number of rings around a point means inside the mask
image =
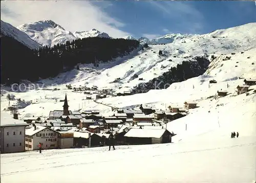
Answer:
POLYGON ((2 182, 255 182, 256 136, 1 154, 2 182))

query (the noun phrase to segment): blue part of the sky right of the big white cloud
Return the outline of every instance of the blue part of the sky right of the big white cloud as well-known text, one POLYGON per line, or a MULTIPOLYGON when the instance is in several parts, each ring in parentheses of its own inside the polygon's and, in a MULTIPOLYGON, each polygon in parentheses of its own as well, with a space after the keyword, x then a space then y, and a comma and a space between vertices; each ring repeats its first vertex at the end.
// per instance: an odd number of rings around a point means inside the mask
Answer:
POLYGON ((256 22, 255 2, 242 1, 109 1, 93 2, 135 37, 166 33, 204 34, 256 22))

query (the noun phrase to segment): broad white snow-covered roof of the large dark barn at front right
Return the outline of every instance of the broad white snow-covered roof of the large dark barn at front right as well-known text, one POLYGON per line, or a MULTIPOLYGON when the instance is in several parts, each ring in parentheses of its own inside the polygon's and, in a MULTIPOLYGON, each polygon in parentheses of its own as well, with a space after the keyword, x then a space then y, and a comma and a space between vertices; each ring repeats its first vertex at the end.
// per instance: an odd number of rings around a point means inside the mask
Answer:
POLYGON ((131 128, 124 136, 138 138, 161 138, 166 129, 136 129, 131 128))

